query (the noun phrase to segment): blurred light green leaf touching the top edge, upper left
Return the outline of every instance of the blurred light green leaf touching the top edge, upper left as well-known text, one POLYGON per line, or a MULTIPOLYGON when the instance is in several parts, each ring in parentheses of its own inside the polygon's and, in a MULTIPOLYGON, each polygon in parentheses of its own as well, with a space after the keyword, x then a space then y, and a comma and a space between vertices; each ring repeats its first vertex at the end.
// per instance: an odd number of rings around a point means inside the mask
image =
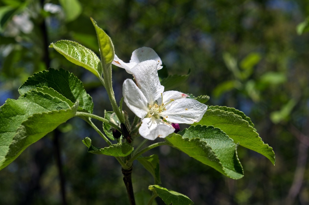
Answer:
POLYGON ((66 22, 75 20, 82 13, 82 6, 78 0, 59 0, 65 14, 66 22))

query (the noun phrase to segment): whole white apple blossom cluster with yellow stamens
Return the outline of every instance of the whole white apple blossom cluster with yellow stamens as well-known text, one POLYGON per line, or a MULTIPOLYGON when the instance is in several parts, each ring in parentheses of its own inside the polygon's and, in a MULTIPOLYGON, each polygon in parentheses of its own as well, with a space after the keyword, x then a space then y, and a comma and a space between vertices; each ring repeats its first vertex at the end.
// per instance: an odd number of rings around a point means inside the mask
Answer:
POLYGON ((164 138, 175 131, 172 123, 193 124, 203 117, 207 105, 187 98, 178 91, 164 92, 157 70, 162 68, 162 61, 151 48, 142 47, 133 51, 129 63, 124 63, 116 55, 112 64, 125 68, 132 74, 132 79, 123 83, 122 93, 129 109, 142 124, 139 134, 149 140, 164 138))

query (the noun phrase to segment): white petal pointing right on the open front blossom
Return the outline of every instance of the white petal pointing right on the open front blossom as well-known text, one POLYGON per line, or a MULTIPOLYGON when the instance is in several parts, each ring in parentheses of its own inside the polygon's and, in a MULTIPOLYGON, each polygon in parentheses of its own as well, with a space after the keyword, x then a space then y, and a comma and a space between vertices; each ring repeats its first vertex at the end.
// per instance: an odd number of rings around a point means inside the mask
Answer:
POLYGON ((206 110, 207 105, 194 99, 182 98, 167 105, 160 116, 170 122, 192 124, 200 121, 206 110))

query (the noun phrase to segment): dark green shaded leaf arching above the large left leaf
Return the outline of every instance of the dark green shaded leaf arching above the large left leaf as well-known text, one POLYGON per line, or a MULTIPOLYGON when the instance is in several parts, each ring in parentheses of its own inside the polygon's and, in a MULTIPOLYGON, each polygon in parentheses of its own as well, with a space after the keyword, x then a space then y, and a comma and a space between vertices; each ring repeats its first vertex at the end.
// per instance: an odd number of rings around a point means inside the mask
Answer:
POLYGON ((43 88, 44 86, 53 88, 73 103, 78 100, 81 108, 92 113, 92 98, 84 89, 83 83, 73 73, 62 68, 59 70, 49 68, 48 71, 35 73, 19 87, 18 91, 20 95, 23 95, 31 89, 43 88))

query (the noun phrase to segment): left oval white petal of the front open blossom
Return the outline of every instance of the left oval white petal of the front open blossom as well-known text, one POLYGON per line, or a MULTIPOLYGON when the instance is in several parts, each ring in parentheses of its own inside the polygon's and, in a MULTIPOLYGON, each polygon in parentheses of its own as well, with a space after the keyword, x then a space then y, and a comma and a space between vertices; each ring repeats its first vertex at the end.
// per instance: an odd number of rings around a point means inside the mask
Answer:
POLYGON ((125 104, 139 118, 144 118, 148 113, 147 100, 132 79, 126 79, 122 85, 122 95, 125 104))

